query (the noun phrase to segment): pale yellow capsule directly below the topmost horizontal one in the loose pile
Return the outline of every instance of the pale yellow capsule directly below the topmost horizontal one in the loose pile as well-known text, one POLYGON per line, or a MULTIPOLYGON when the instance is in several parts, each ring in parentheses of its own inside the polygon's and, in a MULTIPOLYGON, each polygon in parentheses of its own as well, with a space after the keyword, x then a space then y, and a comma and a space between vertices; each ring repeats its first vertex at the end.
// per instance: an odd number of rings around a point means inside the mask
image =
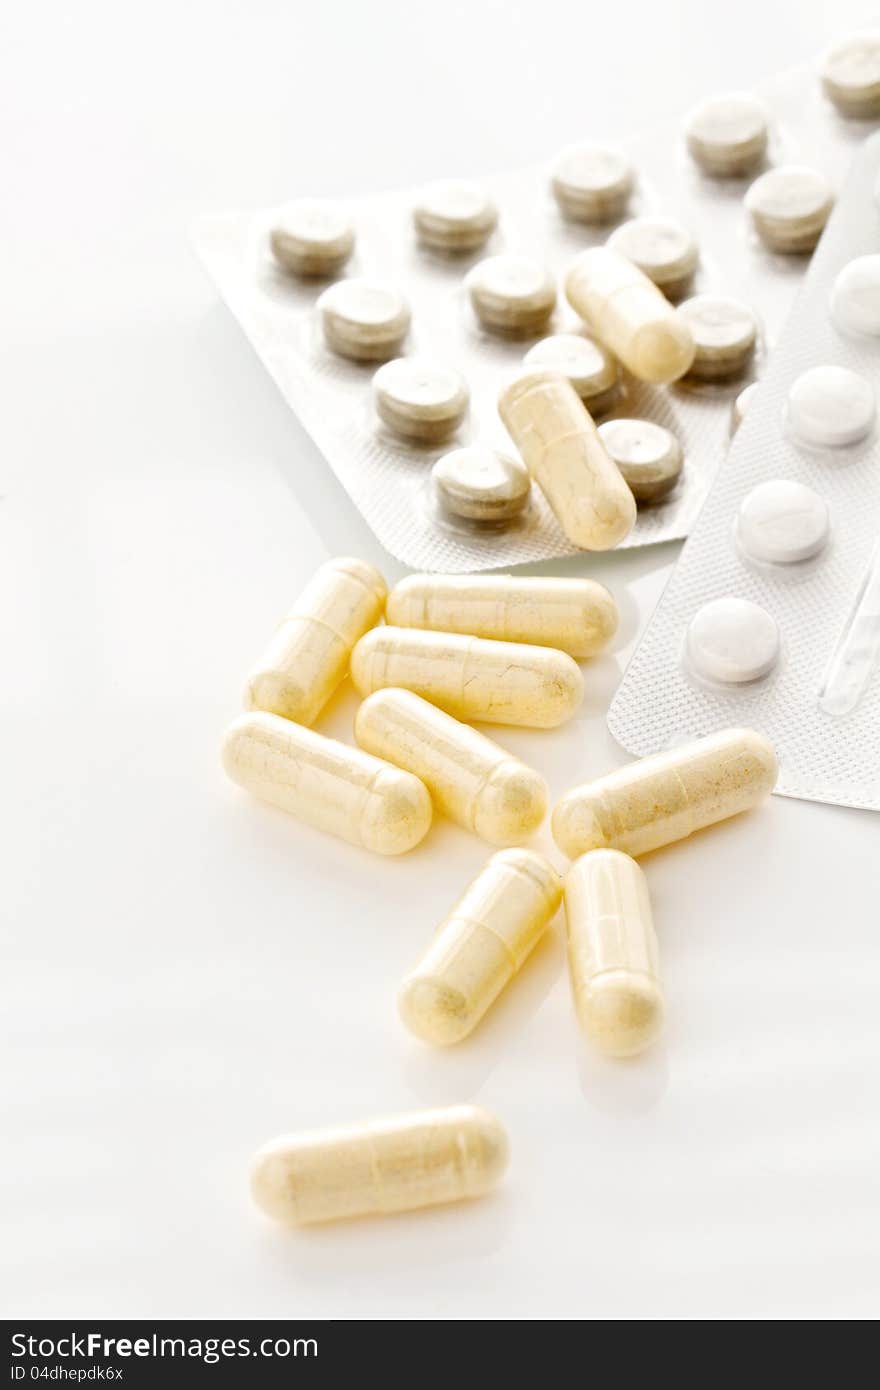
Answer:
POLYGON ((375 627, 361 637, 352 681, 363 696, 398 685, 468 723, 531 728, 571 719, 584 695, 580 667, 564 652, 414 627, 375 627))

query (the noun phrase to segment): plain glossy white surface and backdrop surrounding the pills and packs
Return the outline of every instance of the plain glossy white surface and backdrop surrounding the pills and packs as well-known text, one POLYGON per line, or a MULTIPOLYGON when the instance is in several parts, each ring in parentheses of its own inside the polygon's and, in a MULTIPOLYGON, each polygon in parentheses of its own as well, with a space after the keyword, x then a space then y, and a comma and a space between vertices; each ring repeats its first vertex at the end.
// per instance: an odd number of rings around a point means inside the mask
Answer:
MULTIPOLYGON (((188 246, 204 210, 635 129, 869 18, 7 8, 7 1316, 877 1314, 880 821, 774 798, 645 860, 669 1026, 641 1061, 578 1038, 560 919, 471 1041, 406 1036, 396 983, 487 849, 438 824, 375 859, 222 777, 242 676, 313 569, 400 571, 188 246), (496 1197, 293 1234, 252 1209, 249 1156, 274 1134, 452 1101, 509 1127, 496 1197)), ((499 731, 553 796, 623 760, 605 709, 676 553, 557 566, 612 587, 621 632, 573 724, 499 731)), ((320 727, 350 738, 353 709, 345 691, 320 727)))

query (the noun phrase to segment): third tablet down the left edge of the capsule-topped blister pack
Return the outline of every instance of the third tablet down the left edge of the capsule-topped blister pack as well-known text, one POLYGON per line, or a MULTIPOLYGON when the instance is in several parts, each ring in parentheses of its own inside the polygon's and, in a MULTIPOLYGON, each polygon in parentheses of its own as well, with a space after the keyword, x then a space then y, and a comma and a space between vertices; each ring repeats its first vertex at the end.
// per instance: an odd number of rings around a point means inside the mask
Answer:
POLYGON ((467 410, 464 379, 450 367, 418 357, 386 361, 373 378, 377 414, 405 439, 448 439, 467 410))

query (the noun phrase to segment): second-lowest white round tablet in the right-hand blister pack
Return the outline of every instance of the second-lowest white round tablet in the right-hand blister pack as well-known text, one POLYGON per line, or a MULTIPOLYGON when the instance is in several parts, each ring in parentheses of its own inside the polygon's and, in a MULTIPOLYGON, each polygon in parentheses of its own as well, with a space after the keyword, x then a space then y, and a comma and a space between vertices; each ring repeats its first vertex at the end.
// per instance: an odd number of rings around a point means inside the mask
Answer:
POLYGON ((752 560, 797 564, 827 545, 829 509, 802 482, 773 478, 752 488, 740 503, 737 539, 752 560))

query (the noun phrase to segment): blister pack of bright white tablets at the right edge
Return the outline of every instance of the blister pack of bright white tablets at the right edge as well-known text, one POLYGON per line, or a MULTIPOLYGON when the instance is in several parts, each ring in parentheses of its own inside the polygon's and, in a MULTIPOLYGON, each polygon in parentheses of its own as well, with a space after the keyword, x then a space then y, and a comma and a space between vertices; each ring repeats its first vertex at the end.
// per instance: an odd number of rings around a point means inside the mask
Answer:
POLYGON ((880 810, 880 135, 609 710, 631 753, 765 733, 787 796, 880 810))

